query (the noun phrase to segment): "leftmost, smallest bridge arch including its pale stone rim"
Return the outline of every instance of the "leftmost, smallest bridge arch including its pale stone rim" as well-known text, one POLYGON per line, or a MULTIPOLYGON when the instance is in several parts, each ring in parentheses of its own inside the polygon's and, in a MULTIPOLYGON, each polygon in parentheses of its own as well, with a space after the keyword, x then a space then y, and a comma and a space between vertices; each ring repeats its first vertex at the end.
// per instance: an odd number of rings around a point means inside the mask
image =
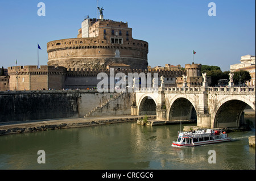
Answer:
POLYGON ((157 101, 152 94, 144 94, 138 102, 137 115, 156 115, 157 101))

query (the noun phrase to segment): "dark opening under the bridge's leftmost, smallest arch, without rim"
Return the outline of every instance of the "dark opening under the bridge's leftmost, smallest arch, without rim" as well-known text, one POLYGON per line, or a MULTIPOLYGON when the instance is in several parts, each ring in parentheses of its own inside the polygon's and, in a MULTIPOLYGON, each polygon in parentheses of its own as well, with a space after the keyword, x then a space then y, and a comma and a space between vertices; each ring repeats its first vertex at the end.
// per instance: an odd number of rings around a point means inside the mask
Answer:
POLYGON ((156 103, 150 96, 142 99, 139 106, 139 115, 156 115, 156 103))

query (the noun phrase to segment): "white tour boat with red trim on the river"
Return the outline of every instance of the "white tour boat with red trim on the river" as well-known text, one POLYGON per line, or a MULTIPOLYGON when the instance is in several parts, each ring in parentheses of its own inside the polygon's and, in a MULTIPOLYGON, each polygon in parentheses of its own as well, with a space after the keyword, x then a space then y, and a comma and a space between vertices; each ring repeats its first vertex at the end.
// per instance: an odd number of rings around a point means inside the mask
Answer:
POLYGON ((207 129, 193 132, 178 132, 177 141, 172 142, 172 146, 199 146, 214 144, 217 142, 230 141, 225 131, 207 129))

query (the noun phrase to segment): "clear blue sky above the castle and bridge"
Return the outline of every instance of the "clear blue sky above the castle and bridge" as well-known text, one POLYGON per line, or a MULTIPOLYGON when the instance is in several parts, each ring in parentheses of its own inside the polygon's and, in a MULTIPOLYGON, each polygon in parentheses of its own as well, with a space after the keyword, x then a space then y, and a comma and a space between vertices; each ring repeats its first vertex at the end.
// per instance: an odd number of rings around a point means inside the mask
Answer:
MULTIPOLYGON (((220 66, 222 71, 255 55, 254 0, 99 0, 104 18, 128 22, 133 38, 149 44, 148 64, 184 67, 194 62, 220 66), (208 4, 216 4, 209 16, 208 4)), ((0 1, 0 66, 47 65, 46 44, 77 37, 81 22, 97 18, 97 0, 0 1), (39 2, 46 16, 38 16, 39 2)))

